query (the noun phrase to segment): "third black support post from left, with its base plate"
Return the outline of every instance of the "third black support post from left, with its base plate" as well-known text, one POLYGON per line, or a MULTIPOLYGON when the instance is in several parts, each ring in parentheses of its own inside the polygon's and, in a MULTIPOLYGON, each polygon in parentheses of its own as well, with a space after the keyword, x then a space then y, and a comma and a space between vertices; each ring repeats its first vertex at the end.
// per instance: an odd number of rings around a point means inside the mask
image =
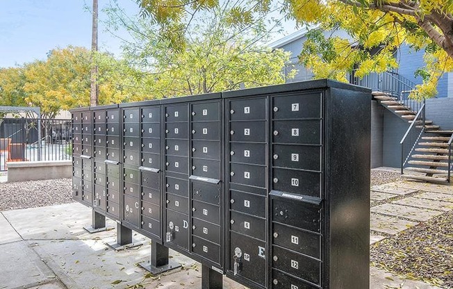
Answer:
POLYGON ((138 265, 153 275, 181 267, 181 264, 168 258, 167 247, 153 241, 151 241, 149 261, 139 263, 138 265))

